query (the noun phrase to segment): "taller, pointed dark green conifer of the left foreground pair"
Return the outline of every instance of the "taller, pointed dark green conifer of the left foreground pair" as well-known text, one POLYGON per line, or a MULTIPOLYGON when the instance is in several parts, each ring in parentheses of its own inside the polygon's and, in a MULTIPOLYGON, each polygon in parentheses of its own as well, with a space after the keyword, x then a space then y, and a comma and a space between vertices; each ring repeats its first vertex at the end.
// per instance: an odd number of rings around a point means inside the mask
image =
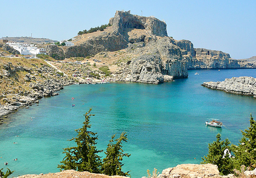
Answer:
POLYGON ((103 150, 97 150, 95 146, 98 139, 98 136, 95 136, 97 133, 88 130, 91 128, 89 119, 91 116, 94 116, 94 114, 90 114, 91 110, 92 108, 84 114, 84 125, 76 130, 78 135, 69 140, 74 140, 77 146, 63 149, 63 153, 66 156, 63 158, 63 161, 60 161, 61 165, 58 165, 60 170, 74 169, 77 171, 101 173, 101 157, 97 154, 103 150))

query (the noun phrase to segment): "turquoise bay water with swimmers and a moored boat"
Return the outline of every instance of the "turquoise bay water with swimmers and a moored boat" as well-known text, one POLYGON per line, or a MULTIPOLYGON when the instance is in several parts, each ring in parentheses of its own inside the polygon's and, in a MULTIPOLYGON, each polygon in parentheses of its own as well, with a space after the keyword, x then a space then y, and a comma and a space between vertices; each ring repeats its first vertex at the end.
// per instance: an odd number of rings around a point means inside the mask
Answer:
POLYGON ((19 109, 0 125, 0 168, 15 170, 12 176, 58 172, 62 148, 73 145, 67 140, 76 136, 74 130, 82 126, 89 107, 96 114, 91 129, 98 133, 98 149, 106 148, 112 134, 128 133, 123 149, 131 156, 124 159, 123 169, 131 170, 132 177, 146 176, 147 169, 161 172, 200 163, 217 133, 236 143, 240 129, 249 126, 250 113, 256 117, 256 99, 200 86, 233 76, 256 77, 256 70, 191 70, 188 79, 159 85, 67 86, 60 95, 41 99, 39 106, 19 109), (205 126, 206 118, 220 118, 226 127, 205 126))

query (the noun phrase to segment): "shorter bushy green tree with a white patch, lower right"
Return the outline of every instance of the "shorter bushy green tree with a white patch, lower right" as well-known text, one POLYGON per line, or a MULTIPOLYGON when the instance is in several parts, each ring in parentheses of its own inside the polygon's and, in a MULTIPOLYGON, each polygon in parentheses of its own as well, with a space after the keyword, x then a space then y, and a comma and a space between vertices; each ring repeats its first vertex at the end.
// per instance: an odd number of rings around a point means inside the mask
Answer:
POLYGON ((233 171, 233 158, 229 158, 228 154, 223 158, 224 150, 231 150, 231 147, 229 146, 230 141, 228 138, 221 141, 221 134, 217 134, 216 138, 216 141, 208 144, 209 152, 207 156, 202 157, 203 161, 201 164, 216 164, 221 174, 230 174, 231 171, 233 171))

